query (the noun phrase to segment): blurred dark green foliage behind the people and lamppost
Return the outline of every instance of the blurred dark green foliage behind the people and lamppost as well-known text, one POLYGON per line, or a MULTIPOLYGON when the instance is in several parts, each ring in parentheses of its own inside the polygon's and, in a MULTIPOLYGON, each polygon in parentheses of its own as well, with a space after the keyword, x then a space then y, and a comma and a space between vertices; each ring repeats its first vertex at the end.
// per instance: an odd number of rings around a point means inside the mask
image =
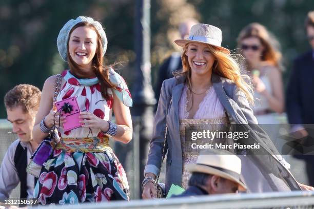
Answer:
MULTIPOLYGON (((134 5, 134 0, 1 1, 0 118, 6 117, 3 97, 13 86, 30 83, 42 88, 47 77, 67 68, 58 55, 56 37, 67 20, 77 16, 91 16, 103 23, 108 36, 106 64, 123 61, 120 73, 131 87, 136 56, 134 5)), ((281 43, 288 72, 292 59, 310 49, 303 23, 313 9, 313 0, 151 0, 152 75, 174 50, 171 32, 185 17, 220 27, 222 45, 229 49, 237 47, 235 40, 244 26, 251 22, 265 25, 281 43)))

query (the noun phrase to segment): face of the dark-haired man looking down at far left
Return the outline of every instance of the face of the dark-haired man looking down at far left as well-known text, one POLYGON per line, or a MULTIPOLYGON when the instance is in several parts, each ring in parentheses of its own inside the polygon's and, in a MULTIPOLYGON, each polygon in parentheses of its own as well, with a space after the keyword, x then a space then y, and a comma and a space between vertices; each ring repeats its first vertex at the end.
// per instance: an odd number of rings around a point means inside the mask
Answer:
POLYGON ((35 123, 35 113, 25 113, 21 106, 7 108, 7 119, 12 123, 13 132, 19 140, 28 142, 32 139, 32 130, 35 123))

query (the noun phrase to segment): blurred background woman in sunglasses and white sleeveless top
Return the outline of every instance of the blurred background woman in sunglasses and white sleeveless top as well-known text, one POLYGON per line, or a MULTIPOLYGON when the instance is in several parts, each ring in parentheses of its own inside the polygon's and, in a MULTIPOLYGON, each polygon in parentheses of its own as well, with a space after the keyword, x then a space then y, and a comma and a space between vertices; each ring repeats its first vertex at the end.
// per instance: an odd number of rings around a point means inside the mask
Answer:
POLYGON ((282 54, 278 41, 258 23, 244 27, 238 37, 238 48, 244 56, 243 68, 252 76, 254 115, 260 124, 280 123, 284 112, 282 54))

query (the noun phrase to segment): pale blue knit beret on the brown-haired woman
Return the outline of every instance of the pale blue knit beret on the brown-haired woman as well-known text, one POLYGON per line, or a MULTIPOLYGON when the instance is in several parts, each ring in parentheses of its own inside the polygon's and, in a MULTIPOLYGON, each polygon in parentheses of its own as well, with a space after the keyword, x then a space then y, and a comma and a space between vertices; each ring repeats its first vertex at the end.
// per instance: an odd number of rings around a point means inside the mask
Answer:
POLYGON ((107 50, 107 37, 106 37, 106 33, 102 27, 102 25, 95 21, 93 18, 91 17, 84 17, 84 16, 80 16, 77 17, 76 19, 70 19, 64 26, 63 28, 60 30, 58 38, 57 38, 57 47, 58 47, 58 51, 61 55, 61 57, 65 60, 67 60, 67 44, 68 44, 68 40, 69 40, 69 33, 71 31, 71 29, 78 23, 81 22, 88 22, 90 24, 92 24, 93 26, 95 26, 95 28, 97 29, 97 31, 99 32, 99 34, 102 37, 102 41, 103 41, 103 55, 105 55, 106 50, 107 50))

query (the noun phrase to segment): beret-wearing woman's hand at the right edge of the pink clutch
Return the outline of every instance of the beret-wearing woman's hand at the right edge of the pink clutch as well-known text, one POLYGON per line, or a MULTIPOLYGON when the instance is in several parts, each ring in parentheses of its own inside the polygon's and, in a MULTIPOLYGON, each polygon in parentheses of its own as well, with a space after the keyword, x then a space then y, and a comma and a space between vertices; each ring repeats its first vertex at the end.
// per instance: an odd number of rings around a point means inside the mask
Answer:
POLYGON ((80 118, 83 120, 80 120, 79 122, 84 123, 82 127, 101 129, 102 131, 107 131, 109 129, 108 122, 106 120, 103 120, 102 118, 97 117, 93 113, 81 112, 80 118))

